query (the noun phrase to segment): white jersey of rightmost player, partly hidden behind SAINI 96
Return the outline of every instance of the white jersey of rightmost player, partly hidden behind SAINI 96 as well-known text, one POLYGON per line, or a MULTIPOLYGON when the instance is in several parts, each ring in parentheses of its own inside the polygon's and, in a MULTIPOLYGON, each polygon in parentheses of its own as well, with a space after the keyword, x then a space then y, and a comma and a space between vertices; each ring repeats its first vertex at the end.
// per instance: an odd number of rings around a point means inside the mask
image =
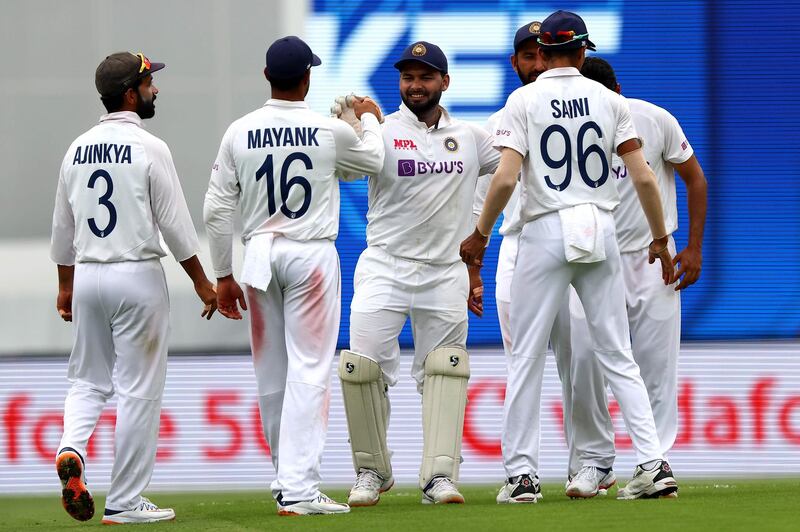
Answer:
MULTIPOLYGON (((673 164, 684 163, 694 154, 680 124, 665 109, 643 100, 628 98, 636 132, 644 142, 644 156, 656 174, 664 208, 667 234, 678 229, 678 205, 675 196, 673 164)), ((653 239, 650 225, 639 203, 636 188, 628 177, 628 169, 616 155, 611 163, 611 176, 617 182, 619 207, 614 211, 617 240, 621 252, 638 251, 653 239)))

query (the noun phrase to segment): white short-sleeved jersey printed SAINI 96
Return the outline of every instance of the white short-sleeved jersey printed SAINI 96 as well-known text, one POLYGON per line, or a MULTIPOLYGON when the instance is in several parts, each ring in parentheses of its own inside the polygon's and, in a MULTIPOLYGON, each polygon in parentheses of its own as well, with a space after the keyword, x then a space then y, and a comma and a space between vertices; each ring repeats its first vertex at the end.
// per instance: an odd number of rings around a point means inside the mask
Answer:
POLYGON ((521 221, 592 203, 619 203, 611 155, 636 138, 622 96, 576 68, 554 68, 520 87, 506 102, 495 146, 521 153, 521 221))

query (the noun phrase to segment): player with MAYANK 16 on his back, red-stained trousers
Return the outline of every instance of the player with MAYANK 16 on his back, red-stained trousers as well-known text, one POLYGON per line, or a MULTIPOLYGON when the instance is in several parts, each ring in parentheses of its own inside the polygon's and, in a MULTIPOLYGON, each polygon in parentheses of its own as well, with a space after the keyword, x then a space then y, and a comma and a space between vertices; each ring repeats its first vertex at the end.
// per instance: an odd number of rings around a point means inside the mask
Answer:
POLYGON ((204 209, 220 312, 241 319, 237 302, 250 309, 259 408, 281 515, 349 511, 319 490, 341 314, 336 175, 375 173, 384 158, 380 110, 371 100, 355 103, 363 139, 345 122, 308 108, 311 67, 320 63, 297 37, 269 47, 264 74, 272 98, 225 132, 204 209), (246 303, 231 267, 237 206, 246 303))

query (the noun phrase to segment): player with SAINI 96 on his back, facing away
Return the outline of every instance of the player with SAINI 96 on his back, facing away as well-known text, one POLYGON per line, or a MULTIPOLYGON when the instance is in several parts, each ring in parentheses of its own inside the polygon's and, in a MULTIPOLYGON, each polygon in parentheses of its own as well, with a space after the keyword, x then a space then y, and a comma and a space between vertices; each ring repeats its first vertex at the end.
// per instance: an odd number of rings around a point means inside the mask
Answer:
POLYGON ((513 478, 536 474, 533 456, 520 453, 516 431, 540 427, 539 402, 521 401, 525 387, 541 394, 547 339, 567 288, 572 284, 586 309, 593 350, 620 403, 639 467, 628 484, 631 498, 677 490, 661 446, 630 349, 619 249, 611 211, 619 203, 609 181, 616 151, 631 171, 653 235, 649 260, 658 258, 662 280, 673 276, 658 185, 642 155, 625 100, 580 75, 592 46, 583 20, 557 11, 544 20, 539 37, 547 72, 517 89, 506 103, 496 135, 502 149, 486 203, 473 234, 462 243, 467 264, 480 264, 488 234, 511 196, 522 169, 519 252, 512 282, 512 361, 505 415, 524 423, 504 424, 503 462, 513 478), (523 165, 524 163, 524 165, 523 165), (521 358, 535 364, 519 364, 521 358))

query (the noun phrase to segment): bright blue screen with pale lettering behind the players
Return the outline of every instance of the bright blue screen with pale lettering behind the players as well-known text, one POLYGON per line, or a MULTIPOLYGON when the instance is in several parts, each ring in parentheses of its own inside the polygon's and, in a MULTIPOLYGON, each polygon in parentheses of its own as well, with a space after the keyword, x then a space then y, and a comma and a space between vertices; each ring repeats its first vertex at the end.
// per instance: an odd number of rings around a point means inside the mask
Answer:
MULTIPOLYGON (((701 280, 683 293, 683 339, 765 339, 800 336, 800 133, 796 93, 800 74, 796 60, 800 40, 800 2, 745 1, 372 1, 315 0, 314 16, 334 17, 338 31, 334 50, 347 46, 364 21, 375 14, 393 15, 405 30, 369 76, 372 96, 385 112, 400 103, 397 71, 392 67, 411 42, 412 28, 429 14, 448 16, 507 14, 517 21, 523 12, 557 8, 579 14, 607 11, 620 18, 619 45, 597 55, 615 68, 623 94, 669 110, 692 143, 708 179, 708 219, 701 280)), ((446 20, 446 19, 445 19, 446 20)), ((587 21, 588 23, 588 21, 587 21)), ((520 24, 510 25, 516 29, 520 24)), ((422 38, 437 43, 458 25, 441 25, 422 38)), ((597 31, 597 30, 595 30, 597 31)), ((590 36, 593 28, 589 26, 590 36)), ((485 35, 474 35, 479 44, 485 35)), ((496 38, 496 36, 495 36, 496 38)), ((501 98, 450 105, 455 116, 488 116, 502 107, 519 86, 507 50, 463 54, 451 62, 495 61, 502 65, 501 98)), ((367 47, 368 48, 368 47, 367 47)), ((365 49, 364 54, 370 50, 365 49)), ((336 58, 323 57, 323 65, 336 58)), ((347 65, 340 65, 346 72, 347 65)), ((324 66, 323 66, 324 68, 324 66)), ((451 84, 459 80, 454 76, 451 84)), ((313 81, 312 81, 313 83, 313 81)), ((480 87, 475 87, 480 90, 480 87)), ((686 243, 688 215, 683 183, 678 181, 679 249, 686 243)), ((366 246, 366 182, 343 184, 342 218, 337 247, 342 266, 342 327, 339 343, 347 346, 353 270, 366 246)), ((498 224, 499 225, 499 224, 498 224)), ((499 344, 494 304, 494 269, 500 237, 495 236, 484 268, 485 313, 470 315, 469 344, 499 344)), ((408 324, 400 338, 410 346, 408 324)))

